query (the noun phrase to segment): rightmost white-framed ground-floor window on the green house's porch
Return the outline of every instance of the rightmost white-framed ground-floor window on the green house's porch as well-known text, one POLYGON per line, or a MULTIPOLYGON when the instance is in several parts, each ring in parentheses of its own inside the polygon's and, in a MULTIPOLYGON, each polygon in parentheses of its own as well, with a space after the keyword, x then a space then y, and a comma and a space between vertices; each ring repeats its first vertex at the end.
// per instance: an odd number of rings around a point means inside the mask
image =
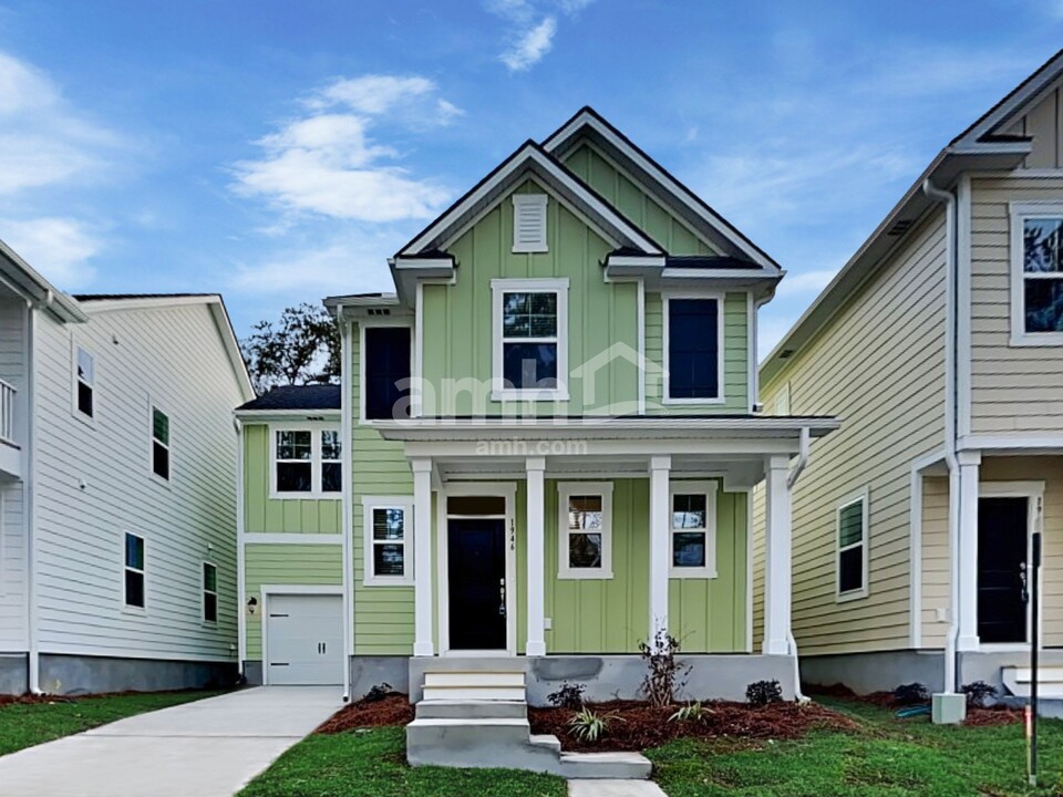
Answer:
POLYGON ((716 577, 716 483, 677 483, 671 490, 671 577, 716 577))

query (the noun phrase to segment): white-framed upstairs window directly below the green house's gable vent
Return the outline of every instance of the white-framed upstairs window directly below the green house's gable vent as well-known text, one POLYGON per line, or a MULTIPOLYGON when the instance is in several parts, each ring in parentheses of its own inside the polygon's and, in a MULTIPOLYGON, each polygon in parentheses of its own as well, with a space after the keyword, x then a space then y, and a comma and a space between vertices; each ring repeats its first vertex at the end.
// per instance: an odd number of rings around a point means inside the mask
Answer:
POLYGON ((568 280, 496 279, 495 400, 568 397, 568 280))

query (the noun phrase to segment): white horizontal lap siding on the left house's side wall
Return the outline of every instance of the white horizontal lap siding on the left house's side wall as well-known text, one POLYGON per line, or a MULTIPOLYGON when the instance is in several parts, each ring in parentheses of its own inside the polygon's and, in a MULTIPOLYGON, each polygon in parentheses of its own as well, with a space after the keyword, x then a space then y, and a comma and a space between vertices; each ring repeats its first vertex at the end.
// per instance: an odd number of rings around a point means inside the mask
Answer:
MULTIPOLYGON (((206 304, 38 314, 34 456, 39 640, 45 653, 235 661, 236 446, 244 401, 206 304), (94 424, 73 411, 73 345, 95 358, 94 424), (151 403, 169 415, 152 474, 151 403), (145 540, 146 609, 123 600, 124 532, 145 540), (203 622, 202 562, 218 573, 203 622)), ((42 687, 51 689, 49 684, 42 687)))

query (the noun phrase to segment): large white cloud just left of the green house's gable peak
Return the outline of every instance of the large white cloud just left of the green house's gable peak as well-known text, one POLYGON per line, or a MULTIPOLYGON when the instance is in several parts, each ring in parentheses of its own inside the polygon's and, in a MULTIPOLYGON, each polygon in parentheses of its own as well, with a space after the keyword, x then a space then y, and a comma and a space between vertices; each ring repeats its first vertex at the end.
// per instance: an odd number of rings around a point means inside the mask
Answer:
POLYGON ((431 218, 451 192, 413 177, 373 128, 450 124, 462 111, 436 93, 420 76, 337 80, 305 102, 310 115, 256 142, 264 156, 235 165, 234 188, 289 213, 370 222, 431 218))

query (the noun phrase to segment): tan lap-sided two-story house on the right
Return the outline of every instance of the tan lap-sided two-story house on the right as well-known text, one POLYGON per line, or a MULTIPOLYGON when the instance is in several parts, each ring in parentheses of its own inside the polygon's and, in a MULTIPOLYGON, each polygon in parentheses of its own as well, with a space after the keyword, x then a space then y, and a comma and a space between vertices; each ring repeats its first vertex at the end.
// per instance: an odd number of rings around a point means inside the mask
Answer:
POLYGON ((811 683, 1024 694, 1040 529, 1063 664, 1061 81, 1063 53, 957 136, 761 368, 768 413, 843 423, 794 494, 811 683))

